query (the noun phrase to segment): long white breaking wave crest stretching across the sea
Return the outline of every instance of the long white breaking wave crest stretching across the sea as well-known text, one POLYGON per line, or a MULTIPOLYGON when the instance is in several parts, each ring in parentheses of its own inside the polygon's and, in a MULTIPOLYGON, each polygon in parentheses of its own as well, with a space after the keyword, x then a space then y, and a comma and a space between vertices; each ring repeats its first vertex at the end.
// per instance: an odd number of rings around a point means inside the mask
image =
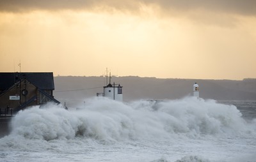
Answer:
POLYGON ((214 100, 184 98, 120 103, 106 98, 91 98, 78 110, 47 104, 44 108, 35 106, 20 111, 13 118, 11 134, 44 140, 82 136, 116 141, 220 134, 255 135, 255 126, 252 125, 244 121, 234 105, 214 100))

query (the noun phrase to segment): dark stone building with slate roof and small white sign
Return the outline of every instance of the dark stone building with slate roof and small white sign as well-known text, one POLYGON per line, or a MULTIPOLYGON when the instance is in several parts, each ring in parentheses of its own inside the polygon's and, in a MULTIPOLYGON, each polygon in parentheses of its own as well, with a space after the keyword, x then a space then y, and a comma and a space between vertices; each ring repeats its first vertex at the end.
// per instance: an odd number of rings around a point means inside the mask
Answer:
POLYGON ((60 103, 52 94, 53 73, 0 73, 1 114, 10 114, 32 105, 60 103))

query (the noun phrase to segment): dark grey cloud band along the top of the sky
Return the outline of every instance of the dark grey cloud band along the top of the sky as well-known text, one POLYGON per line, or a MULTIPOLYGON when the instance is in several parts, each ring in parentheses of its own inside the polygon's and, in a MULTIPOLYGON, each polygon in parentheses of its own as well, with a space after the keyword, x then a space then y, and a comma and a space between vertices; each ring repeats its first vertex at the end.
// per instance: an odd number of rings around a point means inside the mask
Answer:
POLYGON ((31 10, 89 10, 95 7, 116 10, 139 10, 141 5, 157 5, 164 10, 209 10, 238 15, 256 15, 255 0, 0 0, 1 11, 24 12, 31 10))

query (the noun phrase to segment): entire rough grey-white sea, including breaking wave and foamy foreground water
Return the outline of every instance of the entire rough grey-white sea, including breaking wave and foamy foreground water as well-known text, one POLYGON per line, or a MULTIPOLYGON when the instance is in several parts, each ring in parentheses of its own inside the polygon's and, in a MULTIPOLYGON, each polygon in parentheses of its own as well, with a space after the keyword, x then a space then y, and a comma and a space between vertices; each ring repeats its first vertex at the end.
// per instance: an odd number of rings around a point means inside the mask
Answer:
POLYGON ((0 161, 255 162, 256 101, 88 98, 18 112, 0 161))

